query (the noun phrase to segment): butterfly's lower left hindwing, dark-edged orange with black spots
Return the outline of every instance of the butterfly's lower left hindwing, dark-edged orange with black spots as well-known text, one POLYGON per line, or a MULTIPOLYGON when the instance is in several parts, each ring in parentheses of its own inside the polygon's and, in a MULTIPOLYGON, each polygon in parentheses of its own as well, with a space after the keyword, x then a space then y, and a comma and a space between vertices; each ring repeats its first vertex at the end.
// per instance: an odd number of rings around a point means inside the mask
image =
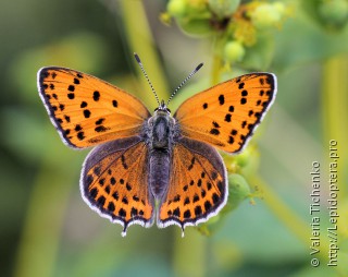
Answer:
POLYGON ((97 146, 87 156, 80 191, 85 202, 102 217, 126 229, 153 224, 153 196, 148 189, 148 149, 138 136, 97 146))

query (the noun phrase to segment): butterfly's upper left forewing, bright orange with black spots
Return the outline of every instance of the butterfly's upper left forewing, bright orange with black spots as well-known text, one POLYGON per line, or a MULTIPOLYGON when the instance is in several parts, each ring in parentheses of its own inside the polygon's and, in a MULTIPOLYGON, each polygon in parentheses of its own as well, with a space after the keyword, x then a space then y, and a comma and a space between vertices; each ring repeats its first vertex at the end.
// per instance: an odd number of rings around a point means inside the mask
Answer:
POLYGON ((72 147, 136 135, 150 117, 134 96, 75 70, 42 68, 38 88, 52 123, 72 147))

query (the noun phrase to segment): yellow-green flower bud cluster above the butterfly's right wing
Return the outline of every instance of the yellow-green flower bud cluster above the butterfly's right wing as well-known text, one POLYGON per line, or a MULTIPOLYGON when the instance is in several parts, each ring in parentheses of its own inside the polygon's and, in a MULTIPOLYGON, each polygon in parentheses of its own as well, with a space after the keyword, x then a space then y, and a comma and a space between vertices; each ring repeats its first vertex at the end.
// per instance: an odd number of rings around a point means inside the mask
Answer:
POLYGON ((239 0, 170 0, 162 20, 169 22, 172 16, 190 36, 214 36, 214 52, 227 64, 263 70, 273 51, 269 32, 283 24, 288 11, 279 1, 240 4, 239 0))

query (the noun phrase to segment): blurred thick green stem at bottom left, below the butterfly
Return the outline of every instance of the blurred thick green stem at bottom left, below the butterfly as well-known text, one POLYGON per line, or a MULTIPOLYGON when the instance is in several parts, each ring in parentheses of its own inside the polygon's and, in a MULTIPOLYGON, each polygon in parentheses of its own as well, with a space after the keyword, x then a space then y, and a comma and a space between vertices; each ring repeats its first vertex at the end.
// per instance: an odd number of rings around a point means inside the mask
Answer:
POLYGON ((66 202, 73 188, 66 180, 73 179, 65 171, 47 166, 44 159, 28 202, 15 277, 53 275, 66 202))

